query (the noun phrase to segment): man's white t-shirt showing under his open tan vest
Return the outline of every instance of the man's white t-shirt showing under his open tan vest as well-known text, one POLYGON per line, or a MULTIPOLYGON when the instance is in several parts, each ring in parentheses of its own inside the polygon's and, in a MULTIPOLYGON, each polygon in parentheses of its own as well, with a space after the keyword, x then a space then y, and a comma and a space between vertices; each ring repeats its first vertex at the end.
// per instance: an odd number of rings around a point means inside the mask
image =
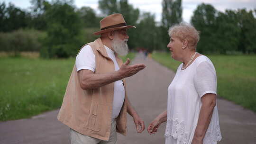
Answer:
MULTIPOLYGON (((119 65, 117 63, 114 51, 112 51, 110 48, 105 46, 105 49, 107 51, 108 56, 110 59, 114 62, 115 65, 115 71, 119 70, 119 65)), ((80 53, 76 56, 75 60, 76 70, 77 72, 82 69, 91 70, 92 72, 95 72, 95 55, 91 49, 90 45, 85 45, 82 47, 80 53)), ((112 121, 118 117, 119 112, 123 106, 125 99, 125 90, 123 81, 115 81, 114 83, 114 98, 113 98, 113 110, 112 110, 112 121)))

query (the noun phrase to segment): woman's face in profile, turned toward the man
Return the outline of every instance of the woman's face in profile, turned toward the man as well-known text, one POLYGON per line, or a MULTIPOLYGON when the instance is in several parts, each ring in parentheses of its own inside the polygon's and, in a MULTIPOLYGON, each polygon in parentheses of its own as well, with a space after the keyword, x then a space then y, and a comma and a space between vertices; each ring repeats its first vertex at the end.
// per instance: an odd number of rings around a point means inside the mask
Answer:
POLYGON ((171 51, 171 56, 174 60, 181 61, 182 58, 182 41, 177 37, 171 37, 170 42, 167 45, 169 50, 171 51))

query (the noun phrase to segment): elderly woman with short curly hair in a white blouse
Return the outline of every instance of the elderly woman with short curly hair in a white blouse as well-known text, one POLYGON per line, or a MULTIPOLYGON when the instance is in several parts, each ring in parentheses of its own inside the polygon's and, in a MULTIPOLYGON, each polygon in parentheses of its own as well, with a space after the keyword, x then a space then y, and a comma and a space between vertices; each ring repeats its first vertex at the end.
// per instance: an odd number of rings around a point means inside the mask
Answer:
POLYGON ((217 144, 221 140, 216 106, 216 72, 210 59, 196 52, 199 32, 187 23, 168 31, 172 58, 182 62, 168 87, 168 107, 148 126, 149 134, 167 121, 165 144, 217 144))

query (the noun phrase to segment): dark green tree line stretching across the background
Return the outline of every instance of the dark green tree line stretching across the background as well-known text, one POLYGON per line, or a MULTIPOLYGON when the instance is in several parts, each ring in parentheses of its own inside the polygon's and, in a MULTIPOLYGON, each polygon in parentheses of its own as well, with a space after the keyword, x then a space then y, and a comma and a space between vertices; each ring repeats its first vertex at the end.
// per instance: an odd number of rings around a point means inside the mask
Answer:
MULTIPOLYGON (((46 58, 75 56, 82 45, 97 38, 92 33, 100 29, 100 20, 113 13, 121 13, 128 25, 137 27, 128 30, 130 49, 167 51, 169 27, 183 21, 182 0, 162 0, 161 22, 128 0, 99 0, 100 16, 90 7, 76 8, 73 0, 30 2, 29 10, 0 3, 0 51, 40 51, 46 58)), ((200 53, 256 53, 256 9, 220 12, 201 3, 190 23, 200 31, 200 53)))

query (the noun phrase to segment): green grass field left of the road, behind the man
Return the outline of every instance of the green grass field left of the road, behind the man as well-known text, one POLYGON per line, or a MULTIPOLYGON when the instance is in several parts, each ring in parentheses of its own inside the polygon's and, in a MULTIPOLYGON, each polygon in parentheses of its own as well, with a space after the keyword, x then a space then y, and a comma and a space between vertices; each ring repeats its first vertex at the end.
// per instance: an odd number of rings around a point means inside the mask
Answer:
MULTIPOLYGON (((134 53, 127 57, 133 59, 134 53)), ((0 121, 60 108, 75 59, 0 57, 0 121)))

